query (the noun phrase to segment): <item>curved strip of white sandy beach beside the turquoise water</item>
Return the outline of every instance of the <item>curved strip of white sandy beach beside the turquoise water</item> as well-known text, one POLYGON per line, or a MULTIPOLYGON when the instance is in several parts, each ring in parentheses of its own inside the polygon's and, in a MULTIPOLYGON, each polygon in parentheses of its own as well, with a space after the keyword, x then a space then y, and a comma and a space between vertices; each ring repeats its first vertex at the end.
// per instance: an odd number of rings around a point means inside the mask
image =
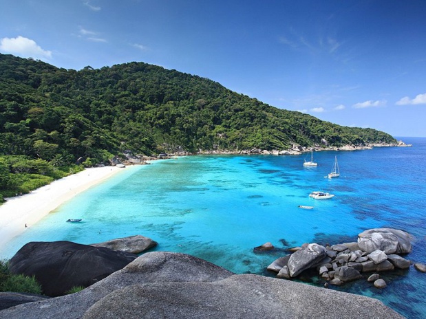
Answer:
POLYGON ((8 199, 0 206, 0 245, 24 232, 25 225, 31 227, 65 201, 125 169, 115 166, 86 168, 29 194, 8 199))

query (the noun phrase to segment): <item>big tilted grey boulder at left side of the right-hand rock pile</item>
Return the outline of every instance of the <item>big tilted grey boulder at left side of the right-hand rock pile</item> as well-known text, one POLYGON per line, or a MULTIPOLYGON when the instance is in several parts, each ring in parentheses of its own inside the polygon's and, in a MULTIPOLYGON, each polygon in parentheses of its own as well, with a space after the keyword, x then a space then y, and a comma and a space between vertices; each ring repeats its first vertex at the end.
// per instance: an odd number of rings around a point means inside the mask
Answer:
POLYGON ((317 243, 303 245, 301 250, 297 250, 288 259, 288 271, 291 277, 295 277, 303 270, 315 267, 326 256, 326 248, 317 243))

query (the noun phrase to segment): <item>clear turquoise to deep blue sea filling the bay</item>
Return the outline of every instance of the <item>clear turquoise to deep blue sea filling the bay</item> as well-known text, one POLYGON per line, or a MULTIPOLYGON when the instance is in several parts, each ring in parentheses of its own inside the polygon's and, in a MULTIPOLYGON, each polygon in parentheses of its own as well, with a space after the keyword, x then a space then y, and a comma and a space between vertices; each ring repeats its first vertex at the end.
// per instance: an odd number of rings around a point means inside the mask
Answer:
MULTIPOLYGON (((266 267, 285 248, 356 241, 363 230, 391 227, 414 236, 405 258, 426 263, 426 138, 402 139, 413 146, 314 153, 316 168, 303 167, 308 155, 202 155, 133 166, 25 230, 0 257, 28 241, 97 243, 141 234, 158 242, 156 250, 192 254, 238 274, 275 276, 266 267), (325 178, 335 155, 341 177, 325 178), (313 190, 336 196, 310 199, 313 190), (65 223, 69 218, 83 221, 65 223), (267 241, 275 252, 253 252, 267 241)), ((383 290, 366 280, 331 289, 378 298, 407 318, 426 318, 426 274, 410 267, 382 275, 383 290)), ((324 283, 317 276, 299 280, 324 283)))

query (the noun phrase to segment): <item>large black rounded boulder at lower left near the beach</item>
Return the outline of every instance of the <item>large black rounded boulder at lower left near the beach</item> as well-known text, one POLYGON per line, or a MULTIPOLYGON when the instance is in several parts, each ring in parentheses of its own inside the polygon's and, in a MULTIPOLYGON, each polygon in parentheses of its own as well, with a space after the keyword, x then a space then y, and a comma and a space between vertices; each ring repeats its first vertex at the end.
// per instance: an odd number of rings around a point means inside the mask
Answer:
POLYGON ((93 285, 136 257, 71 241, 30 242, 10 259, 9 267, 12 274, 35 276, 43 294, 61 296, 72 287, 93 285))

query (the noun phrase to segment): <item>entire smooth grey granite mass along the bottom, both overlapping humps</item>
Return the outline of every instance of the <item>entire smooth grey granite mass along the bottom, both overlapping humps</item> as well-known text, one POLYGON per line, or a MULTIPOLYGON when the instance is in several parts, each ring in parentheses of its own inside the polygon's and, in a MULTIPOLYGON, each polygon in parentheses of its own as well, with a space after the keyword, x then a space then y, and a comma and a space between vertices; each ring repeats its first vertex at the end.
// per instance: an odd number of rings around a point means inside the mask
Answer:
POLYGON ((202 259, 148 252, 76 294, 0 318, 403 318, 381 301, 302 283, 235 275, 202 259), (344 311, 342 311, 344 309, 344 311))

